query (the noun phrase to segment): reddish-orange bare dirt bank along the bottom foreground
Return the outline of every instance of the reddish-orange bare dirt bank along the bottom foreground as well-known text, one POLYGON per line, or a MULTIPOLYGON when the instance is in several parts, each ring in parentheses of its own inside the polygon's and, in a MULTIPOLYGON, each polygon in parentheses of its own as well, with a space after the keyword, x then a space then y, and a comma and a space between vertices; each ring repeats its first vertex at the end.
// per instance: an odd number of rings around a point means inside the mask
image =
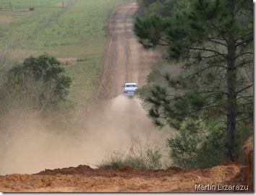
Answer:
MULTIPOLYGON (((33 175, 0 176, 0 191, 4 192, 190 192, 222 191, 248 188, 253 191, 253 139, 244 144, 247 166, 224 162, 213 168, 182 170, 138 170, 129 167, 109 170, 76 168, 43 170, 33 175), (197 186, 197 188, 195 187, 197 186), (220 186, 220 187, 218 187, 220 186)), ((240 191, 240 192, 248 192, 240 191)))

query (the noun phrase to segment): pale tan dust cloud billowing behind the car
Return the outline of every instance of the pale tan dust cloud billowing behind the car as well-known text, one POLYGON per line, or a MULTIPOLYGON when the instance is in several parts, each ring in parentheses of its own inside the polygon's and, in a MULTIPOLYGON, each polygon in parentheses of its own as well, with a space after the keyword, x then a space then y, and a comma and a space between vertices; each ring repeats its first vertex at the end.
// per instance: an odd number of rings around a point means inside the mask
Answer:
POLYGON ((166 150, 166 137, 170 132, 155 128, 136 98, 119 95, 94 113, 79 136, 53 134, 46 131, 44 121, 23 121, 23 128, 7 143, 0 175, 32 174, 78 165, 96 168, 111 152, 129 150, 131 136, 155 144, 163 149, 161 152, 166 150))

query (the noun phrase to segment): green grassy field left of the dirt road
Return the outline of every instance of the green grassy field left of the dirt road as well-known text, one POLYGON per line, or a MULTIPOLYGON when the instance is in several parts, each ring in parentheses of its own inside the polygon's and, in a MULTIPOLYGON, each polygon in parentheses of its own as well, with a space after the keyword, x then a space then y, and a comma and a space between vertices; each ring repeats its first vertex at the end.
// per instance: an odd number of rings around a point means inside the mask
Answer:
POLYGON ((0 47, 9 51, 6 65, 49 53, 72 77, 69 98, 86 105, 101 69, 108 15, 128 1, 0 1, 0 47))

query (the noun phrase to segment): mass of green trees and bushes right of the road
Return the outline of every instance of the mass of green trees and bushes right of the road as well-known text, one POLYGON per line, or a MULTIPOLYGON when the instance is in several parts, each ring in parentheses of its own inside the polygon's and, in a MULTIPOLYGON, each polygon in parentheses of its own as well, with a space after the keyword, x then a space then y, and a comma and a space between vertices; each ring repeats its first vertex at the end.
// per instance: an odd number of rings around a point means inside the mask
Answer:
POLYGON ((155 126, 170 126, 174 165, 244 162, 253 134, 253 2, 140 0, 134 31, 163 60, 137 94, 155 126))

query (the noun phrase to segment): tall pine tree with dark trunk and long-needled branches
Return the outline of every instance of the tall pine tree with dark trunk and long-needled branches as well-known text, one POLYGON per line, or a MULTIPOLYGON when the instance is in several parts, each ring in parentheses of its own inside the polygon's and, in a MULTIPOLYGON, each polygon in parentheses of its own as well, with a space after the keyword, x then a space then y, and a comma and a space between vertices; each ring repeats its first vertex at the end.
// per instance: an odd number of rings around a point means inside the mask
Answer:
POLYGON ((237 125, 252 129, 253 2, 193 0, 173 17, 137 17, 134 29, 144 48, 164 46, 183 64, 179 77, 166 74, 167 86, 151 90, 155 124, 198 131, 225 123, 225 156, 236 160, 237 125))

